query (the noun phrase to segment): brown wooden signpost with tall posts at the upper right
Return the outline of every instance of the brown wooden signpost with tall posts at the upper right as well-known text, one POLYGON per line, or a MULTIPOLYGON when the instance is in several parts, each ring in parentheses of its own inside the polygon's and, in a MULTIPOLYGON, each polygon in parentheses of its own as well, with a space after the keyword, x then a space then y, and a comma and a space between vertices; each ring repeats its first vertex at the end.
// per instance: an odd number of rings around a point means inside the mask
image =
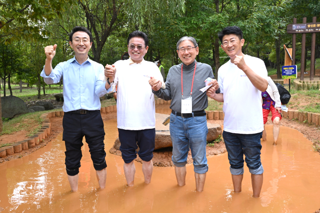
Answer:
POLYGON ((300 80, 304 80, 304 59, 305 59, 305 33, 312 33, 311 37, 311 62, 310 62, 310 80, 314 77, 314 53, 315 53, 315 33, 320 32, 320 22, 316 22, 316 16, 312 17, 311 23, 306 23, 306 17, 302 19, 302 23, 296 23, 296 18, 293 18, 293 23, 288 24, 286 32, 292 34, 292 62, 295 65, 295 35, 302 33, 301 44, 301 65, 300 65, 300 80))

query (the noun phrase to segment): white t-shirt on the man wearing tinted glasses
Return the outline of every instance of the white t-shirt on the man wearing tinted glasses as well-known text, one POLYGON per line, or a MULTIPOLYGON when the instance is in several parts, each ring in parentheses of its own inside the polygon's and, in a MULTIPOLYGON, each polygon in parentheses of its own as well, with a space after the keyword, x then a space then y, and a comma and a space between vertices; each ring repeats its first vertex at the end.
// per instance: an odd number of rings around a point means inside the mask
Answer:
POLYGON ((116 89, 117 128, 143 130, 155 128, 154 96, 149 84, 152 76, 162 81, 159 68, 152 62, 131 59, 114 63, 116 89))

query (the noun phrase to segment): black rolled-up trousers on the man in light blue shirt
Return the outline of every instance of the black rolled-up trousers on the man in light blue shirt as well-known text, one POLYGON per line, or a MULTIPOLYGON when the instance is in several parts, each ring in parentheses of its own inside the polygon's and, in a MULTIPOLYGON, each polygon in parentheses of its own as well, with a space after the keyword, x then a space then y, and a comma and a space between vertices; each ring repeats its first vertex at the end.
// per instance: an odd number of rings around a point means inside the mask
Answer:
POLYGON ((82 158, 82 139, 89 146, 89 152, 95 170, 106 168, 104 151, 104 129, 99 110, 89 111, 89 114, 64 113, 62 140, 65 143, 65 169, 69 176, 79 173, 82 158))

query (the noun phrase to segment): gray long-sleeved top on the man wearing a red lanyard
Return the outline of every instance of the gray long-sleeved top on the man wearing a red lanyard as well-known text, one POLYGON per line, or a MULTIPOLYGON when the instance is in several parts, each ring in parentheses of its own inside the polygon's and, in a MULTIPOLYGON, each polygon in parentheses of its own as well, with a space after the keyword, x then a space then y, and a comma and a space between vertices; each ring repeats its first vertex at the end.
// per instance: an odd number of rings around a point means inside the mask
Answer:
MULTIPOLYGON (((199 91, 202 87, 205 87, 204 80, 208 77, 214 78, 212 69, 208 64, 196 62, 189 65, 184 63, 172 66, 169 69, 168 75, 166 76, 165 89, 152 92, 163 100, 171 100, 170 109, 181 112, 181 66, 183 64, 183 97, 190 97, 192 77, 194 66, 196 63, 196 69, 193 80, 192 89, 192 112, 204 110, 208 106, 208 99, 205 92, 199 91)), ((219 89, 216 91, 219 93, 219 89)))

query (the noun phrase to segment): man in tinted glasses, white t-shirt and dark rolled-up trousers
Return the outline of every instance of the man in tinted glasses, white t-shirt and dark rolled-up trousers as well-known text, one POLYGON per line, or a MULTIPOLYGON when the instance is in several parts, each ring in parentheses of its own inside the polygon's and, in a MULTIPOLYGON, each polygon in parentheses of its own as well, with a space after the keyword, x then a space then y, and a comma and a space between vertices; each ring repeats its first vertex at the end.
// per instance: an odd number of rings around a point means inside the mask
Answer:
POLYGON ((144 32, 131 32, 127 38, 130 58, 105 66, 106 81, 117 85, 116 109, 117 128, 124 161, 123 169, 128 186, 134 185, 136 154, 142 160, 144 183, 149 184, 152 176, 152 157, 155 139, 155 104, 149 85, 150 78, 159 79, 153 90, 165 88, 158 67, 143 59, 148 50, 148 38, 144 32), (108 78, 114 82, 108 81, 108 78), (138 87, 136 87, 138 85, 138 87), (139 151, 135 150, 139 147, 139 151))

